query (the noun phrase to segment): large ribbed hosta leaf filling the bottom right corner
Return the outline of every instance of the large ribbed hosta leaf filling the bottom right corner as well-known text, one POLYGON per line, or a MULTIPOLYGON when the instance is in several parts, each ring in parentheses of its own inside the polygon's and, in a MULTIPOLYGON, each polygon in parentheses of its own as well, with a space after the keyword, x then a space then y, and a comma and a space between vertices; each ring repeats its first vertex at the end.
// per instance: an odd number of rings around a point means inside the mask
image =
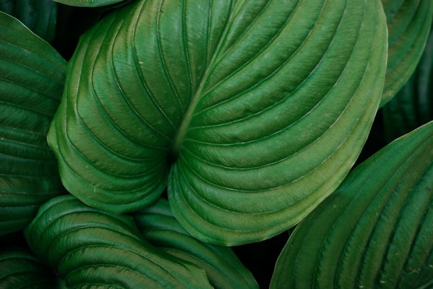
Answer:
POLYGON ((433 283, 433 122, 353 170, 295 228, 270 288, 433 283))

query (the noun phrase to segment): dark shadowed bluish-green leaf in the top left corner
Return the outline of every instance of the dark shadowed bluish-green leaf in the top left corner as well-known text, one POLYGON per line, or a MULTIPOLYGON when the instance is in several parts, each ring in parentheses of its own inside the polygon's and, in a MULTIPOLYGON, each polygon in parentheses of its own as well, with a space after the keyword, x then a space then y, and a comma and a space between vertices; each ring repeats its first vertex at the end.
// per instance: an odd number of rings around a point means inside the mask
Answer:
POLYGON ((53 0, 3 0, 0 11, 16 17, 44 40, 53 41, 57 23, 57 4, 53 0))

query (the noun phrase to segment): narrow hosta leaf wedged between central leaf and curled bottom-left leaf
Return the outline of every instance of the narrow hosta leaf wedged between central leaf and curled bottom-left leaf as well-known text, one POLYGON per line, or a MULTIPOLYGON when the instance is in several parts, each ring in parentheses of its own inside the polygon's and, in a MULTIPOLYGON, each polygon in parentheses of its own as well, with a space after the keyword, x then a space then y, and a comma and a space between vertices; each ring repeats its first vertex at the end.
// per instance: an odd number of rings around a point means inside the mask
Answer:
POLYGON ((167 200, 160 198, 133 217, 146 240, 203 268, 214 288, 259 288, 231 248, 203 243, 188 234, 174 218, 167 200))

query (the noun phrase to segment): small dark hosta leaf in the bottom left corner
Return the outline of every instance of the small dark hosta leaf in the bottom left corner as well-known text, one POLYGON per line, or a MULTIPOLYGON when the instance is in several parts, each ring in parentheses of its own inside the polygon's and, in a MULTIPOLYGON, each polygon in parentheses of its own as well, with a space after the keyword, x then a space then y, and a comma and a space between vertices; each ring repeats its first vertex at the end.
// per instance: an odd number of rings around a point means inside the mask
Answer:
POLYGON ((21 247, 0 250, 0 288, 55 288, 56 277, 28 249, 21 247))

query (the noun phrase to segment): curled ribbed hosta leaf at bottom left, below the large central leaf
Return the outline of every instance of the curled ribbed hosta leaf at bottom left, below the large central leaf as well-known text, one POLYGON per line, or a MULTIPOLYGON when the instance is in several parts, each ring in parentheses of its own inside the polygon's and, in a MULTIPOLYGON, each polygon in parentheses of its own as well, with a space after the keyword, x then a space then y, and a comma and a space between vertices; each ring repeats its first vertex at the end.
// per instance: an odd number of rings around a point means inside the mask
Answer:
POLYGON ((201 268, 145 241, 131 217, 72 195, 46 202, 24 233, 68 288, 212 288, 201 268))

